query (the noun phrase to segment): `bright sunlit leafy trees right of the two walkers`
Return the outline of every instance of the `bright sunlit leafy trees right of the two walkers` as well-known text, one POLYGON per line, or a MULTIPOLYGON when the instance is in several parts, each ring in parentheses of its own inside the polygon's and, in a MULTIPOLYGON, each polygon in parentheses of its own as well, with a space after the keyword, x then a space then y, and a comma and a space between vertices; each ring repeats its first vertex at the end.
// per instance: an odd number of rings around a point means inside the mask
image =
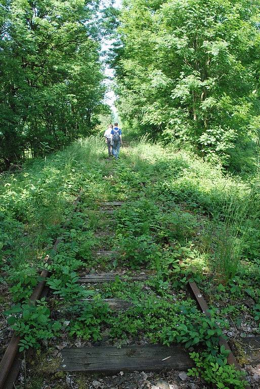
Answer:
POLYGON ((259 129, 259 2, 123 4, 112 60, 121 117, 242 169, 259 129))

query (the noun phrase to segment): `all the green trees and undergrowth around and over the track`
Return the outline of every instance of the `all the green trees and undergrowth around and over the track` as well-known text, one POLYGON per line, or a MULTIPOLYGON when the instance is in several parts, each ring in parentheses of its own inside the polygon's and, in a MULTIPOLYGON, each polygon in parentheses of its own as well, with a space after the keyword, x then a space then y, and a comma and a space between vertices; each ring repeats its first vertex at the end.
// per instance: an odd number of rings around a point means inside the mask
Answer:
MULTIPOLYGON (((190 376, 246 387, 219 337, 259 331, 258 13, 256 0, 2 2, 1 349, 10 330, 38 356, 57 342, 182 343, 190 376), (129 135, 118 162, 89 136, 113 119, 105 34, 129 135), (50 296, 32 303, 44 268, 50 296), (82 279, 111 270, 102 285, 82 279)), ((25 378, 47 384, 43 370, 25 378)))

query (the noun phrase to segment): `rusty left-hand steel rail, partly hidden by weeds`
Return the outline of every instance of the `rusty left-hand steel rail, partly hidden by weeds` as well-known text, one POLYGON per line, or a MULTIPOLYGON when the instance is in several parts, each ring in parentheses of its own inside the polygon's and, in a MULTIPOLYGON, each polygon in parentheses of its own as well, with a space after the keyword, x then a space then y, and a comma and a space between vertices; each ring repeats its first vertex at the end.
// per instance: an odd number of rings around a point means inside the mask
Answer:
MULTIPOLYGON (((77 198, 73 202, 73 211, 71 212, 70 216, 66 219, 63 229, 65 229, 70 222, 73 213, 77 209, 78 202, 80 200, 80 197, 82 196, 82 190, 80 190, 77 198)), ((55 253, 57 251, 58 245, 61 242, 61 238, 57 238, 54 246, 52 248, 52 251, 55 253)), ((35 286, 31 296, 30 296, 30 302, 32 304, 35 304, 36 300, 39 300, 41 297, 42 292, 44 291, 44 288, 46 286, 46 279, 49 276, 49 271, 47 269, 44 269, 40 273, 40 278, 41 281, 35 286)), ((0 362, 0 389, 5 389, 5 383, 6 380, 8 379, 8 376, 12 376, 12 381, 14 382, 15 379, 17 378, 19 369, 17 368, 17 356, 19 354, 18 352, 18 346, 19 342, 21 340, 21 337, 19 335, 13 334, 9 345, 6 349, 6 352, 0 362), (16 362, 16 363, 15 363, 16 362), (12 366, 14 365, 14 371, 12 370, 12 366), (14 378, 15 377, 15 378, 14 378)))

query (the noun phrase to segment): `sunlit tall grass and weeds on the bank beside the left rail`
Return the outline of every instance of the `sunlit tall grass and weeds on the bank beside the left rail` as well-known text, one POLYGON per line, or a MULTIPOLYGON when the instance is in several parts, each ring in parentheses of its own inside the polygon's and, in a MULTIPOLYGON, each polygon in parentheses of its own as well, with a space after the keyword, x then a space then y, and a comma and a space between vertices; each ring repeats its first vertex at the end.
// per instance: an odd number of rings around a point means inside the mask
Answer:
POLYGON ((5 263, 14 268, 40 264, 79 187, 101 164, 98 155, 103 148, 98 137, 80 139, 25 164, 21 172, 0 177, 0 247, 5 248, 5 263))

